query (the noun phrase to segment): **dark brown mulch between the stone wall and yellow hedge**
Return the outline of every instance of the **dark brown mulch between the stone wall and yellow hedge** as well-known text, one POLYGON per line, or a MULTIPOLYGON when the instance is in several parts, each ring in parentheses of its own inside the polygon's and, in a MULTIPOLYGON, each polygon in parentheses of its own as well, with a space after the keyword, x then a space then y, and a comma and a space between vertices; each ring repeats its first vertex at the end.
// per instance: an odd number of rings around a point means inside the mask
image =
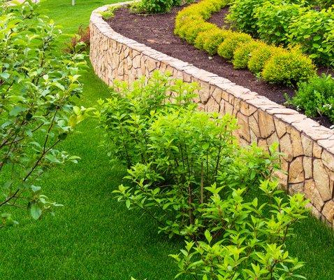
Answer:
MULTIPOLYGON (((293 88, 265 83, 262 80, 258 80, 248 70, 235 70, 233 69, 233 64, 222 57, 218 55, 209 57, 205 52, 197 50, 194 46, 175 36, 173 34, 175 16, 181 9, 182 7, 173 8, 171 13, 168 14, 136 15, 130 13, 128 8, 119 8, 115 11, 115 17, 108 20, 108 23, 112 29, 123 36, 148 45, 166 55, 194 64, 198 68, 228 78, 233 83, 247 87, 278 104, 284 104, 286 101, 284 93, 290 97, 293 96, 293 88)), ((222 9, 219 13, 215 13, 212 16, 210 22, 226 27, 228 24, 225 21, 227 13, 227 8, 222 9)), ((326 127, 331 126, 331 123, 326 118, 318 118, 316 120, 326 127)))

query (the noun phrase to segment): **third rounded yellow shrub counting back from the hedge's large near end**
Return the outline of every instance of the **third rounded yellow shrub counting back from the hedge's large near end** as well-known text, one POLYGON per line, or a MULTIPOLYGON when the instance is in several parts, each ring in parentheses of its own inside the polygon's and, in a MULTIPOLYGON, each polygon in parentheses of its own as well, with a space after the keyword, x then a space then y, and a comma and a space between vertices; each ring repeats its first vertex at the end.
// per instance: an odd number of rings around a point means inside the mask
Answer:
POLYGON ((247 43, 241 43, 238 48, 235 49, 233 55, 233 66, 235 69, 246 69, 248 66, 249 58, 251 57, 251 52, 263 48, 264 43, 259 41, 250 41, 247 43))

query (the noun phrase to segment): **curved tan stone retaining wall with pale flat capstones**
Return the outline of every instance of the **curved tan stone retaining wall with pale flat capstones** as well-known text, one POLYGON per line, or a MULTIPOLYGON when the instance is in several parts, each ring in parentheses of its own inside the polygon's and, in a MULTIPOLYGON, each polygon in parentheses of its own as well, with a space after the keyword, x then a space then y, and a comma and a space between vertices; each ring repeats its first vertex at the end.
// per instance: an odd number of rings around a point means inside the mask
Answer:
MULTIPOLYGON (((119 4, 117 4, 119 5, 119 4)), ((279 142, 284 153, 277 175, 289 192, 305 193, 314 216, 334 227, 334 133, 297 111, 271 102, 226 78, 198 69, 113 31, 101 18, 103 6, 90 20, 90 59, 95 73, 108 85, 113 80, 132 83, 152 71, 201 86, 196 100, 205 111, 230 113, 238 118, 240 144, 256 142, 268 148, 279 142)))

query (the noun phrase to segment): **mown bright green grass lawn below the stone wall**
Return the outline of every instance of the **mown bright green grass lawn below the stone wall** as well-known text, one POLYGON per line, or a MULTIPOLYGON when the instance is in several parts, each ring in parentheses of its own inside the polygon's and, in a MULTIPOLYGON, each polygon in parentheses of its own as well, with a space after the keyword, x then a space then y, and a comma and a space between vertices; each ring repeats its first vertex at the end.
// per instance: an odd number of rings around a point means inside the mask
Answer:
MULTIPOLYGON (((94 8, 106 3, 112 1, 77 0, 72 7, 71 0, 47 0, 41 3, 41 12, 62 25, 65 33, 74 33, 79 25, 88 25, 94 8)), ((78 104, 94 106, 108 96, 92 68, 82 82, 78 104)), ((147 216, 115 202, 111 192, 125 169, 110 166, 94 120, 79 130, 62 148, 82 160, 54 169, 43 179, 45 194, 65 206, 55 218, 34 222, 22 215, 17 228, 0 231, 0 279, 173 279, 177 268, 167 255, 176 253, 182 243, 157 235, 147 216)), ((291 255, 307 262, 300 274, 310 280, 333 280, 333 232, 309 218, 296 233, 288 245, 291 255)))

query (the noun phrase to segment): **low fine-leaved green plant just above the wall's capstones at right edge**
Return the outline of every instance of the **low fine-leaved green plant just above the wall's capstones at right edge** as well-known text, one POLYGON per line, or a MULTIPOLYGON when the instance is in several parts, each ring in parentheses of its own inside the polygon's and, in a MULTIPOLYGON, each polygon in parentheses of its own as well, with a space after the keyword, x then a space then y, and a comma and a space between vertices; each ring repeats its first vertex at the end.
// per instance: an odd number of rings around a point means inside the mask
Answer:
POLYGON ((313 77, 309 82, 300 83, 296 95, 288 100, 306 116, 327 116, 334 122, 334 79, 331 75, 313 77))

